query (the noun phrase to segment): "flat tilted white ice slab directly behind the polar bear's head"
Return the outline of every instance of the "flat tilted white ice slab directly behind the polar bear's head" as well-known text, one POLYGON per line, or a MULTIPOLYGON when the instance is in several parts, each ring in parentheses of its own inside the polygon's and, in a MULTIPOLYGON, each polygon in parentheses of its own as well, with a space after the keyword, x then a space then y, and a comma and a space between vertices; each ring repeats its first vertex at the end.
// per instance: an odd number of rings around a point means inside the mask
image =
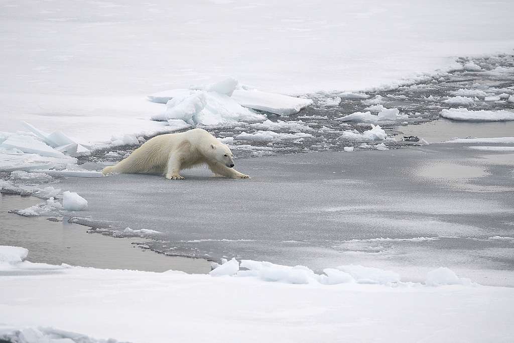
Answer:
POLYGON ((245 91, 243 89, 236 89, 232 94, 232 99, 244 107, 266 111, 281 116, 297 114, 300 110, 313 103, 310 99, 296 98, 256 90, 245 91))

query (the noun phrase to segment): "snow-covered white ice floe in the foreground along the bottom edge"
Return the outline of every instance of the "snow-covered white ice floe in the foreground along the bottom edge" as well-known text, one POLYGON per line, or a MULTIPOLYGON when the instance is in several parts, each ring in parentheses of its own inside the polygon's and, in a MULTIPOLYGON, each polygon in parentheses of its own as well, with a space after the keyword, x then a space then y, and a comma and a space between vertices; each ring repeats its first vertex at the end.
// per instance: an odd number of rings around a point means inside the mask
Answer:
POLYGON ((336 284, 297 284, 305 268, 275 266, 267 275, 292 279, 264 281, 21 262, 25 254, 0 246, 0 339, 508 342, 514 335, 514 288, 462 284, 444 269, 428 273, 426 285, 356 266, 326 270, 336 284))

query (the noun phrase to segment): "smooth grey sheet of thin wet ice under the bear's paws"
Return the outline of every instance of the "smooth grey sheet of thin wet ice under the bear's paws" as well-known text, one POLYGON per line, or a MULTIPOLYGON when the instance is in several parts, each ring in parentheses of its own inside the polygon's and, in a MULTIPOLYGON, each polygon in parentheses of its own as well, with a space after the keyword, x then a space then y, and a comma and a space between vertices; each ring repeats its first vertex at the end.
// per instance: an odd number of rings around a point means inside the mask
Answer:
POLYGON ((61 186, 88 200, 77 215, 111 223, 96 224, 104 233, 161 231, 149 245, 170 255, 354 263, 411 280, 447 266, 514 285, 514 158, 492 156, 460 144, 306 153, 238 160, 247 181, 194 170, 184 181, 125 174, 61 186))

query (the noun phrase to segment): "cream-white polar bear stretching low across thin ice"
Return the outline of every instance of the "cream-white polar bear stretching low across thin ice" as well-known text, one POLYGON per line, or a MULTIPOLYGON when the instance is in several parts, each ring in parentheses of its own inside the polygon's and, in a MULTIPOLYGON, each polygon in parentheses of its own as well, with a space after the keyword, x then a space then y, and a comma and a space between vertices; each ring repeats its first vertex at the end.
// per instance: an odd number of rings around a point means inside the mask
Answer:
POLYGON ((217 175, 250 178, 233 169, 234 161, 228 146, 203 129, 156 136, 117 165, 106 167, 103 174, 161 174, 167 179, 183 180, 180 170, 201 164, 207 164, 217 175))

